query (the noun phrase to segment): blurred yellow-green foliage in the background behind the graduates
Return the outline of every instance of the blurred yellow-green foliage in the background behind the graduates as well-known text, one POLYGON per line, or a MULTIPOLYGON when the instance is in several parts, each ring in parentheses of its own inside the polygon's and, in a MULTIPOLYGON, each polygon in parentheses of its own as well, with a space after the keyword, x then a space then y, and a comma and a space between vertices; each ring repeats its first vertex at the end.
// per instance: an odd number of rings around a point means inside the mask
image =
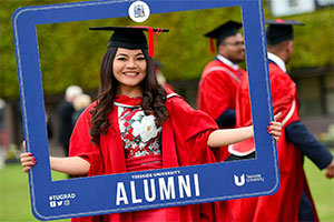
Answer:
MULTIPOLYGON (((20 7, 77 2, 76 0, 0 0, 0 98, 17 99, 19 87, 11 16, 20 7)), ((265 6, 267 3, 265 2, 265 6)), ((266 19, 272 19, 265 7, 266 19)), ((157 37, 156 58, 164 63, 168 80, 198 79, 214 58, 203 34, 228 19, 242 21, 240 8, 208 9, 151 14, 144 23, 129 18, 40 24, 37 27, 40 67, 46 95, 62 93, 67 85, 98 89, 99 63, 110 32, 89 31, 99 26, 151 26, 170 29, 157 37)), ((296 49, 291 68, 333 67, 333 8, 283 19, 306 23, 296 30, 296 49)))

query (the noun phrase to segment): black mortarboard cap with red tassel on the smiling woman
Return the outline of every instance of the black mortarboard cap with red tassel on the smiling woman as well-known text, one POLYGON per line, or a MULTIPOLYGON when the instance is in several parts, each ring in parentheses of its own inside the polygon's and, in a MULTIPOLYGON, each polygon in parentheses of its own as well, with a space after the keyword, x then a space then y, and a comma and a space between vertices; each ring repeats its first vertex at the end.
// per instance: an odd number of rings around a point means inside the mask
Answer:
POLYGON ((148 56, 154 57, 154 36, 168 32, 168 29, 154 29, 150 27, 94 27, 90 30, 114 31, 108 48, 148 49, 148 56), (144 31, 148 32, 148 43, 144 31))

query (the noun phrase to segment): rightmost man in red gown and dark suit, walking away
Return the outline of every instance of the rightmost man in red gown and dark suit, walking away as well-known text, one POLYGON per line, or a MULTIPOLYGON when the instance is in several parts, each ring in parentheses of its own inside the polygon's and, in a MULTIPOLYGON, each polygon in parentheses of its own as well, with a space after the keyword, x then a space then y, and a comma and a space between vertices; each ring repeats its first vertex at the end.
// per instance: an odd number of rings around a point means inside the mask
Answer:
MULTIPOLYGON (((267 49, 274 113, 282 112, 282 137, 277 142, 281 188, 268 196, 230 201, 236 221, 318 221, 303 170, 306 155, 327 178, 334 176, 331 152, 321 144, 301 122, 296 85, 286 73, 285 64, 293 52, 293 26, 297 21, 267 20, 267 49)), ((242 79, 238 90, 236 127, 252 124, 247 77, 242 79)), ((230 145, 238 159, 254 153, 254 140, 230 145)))

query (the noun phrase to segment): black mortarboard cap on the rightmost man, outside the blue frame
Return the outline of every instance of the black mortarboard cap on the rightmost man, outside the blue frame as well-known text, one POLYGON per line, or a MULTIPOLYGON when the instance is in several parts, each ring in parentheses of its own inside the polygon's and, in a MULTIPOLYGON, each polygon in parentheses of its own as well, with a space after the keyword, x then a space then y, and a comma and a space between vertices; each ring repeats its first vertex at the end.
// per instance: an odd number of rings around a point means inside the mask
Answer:
POLYGON ((278 44, 285 40, 294 38, 293 26, 304 26, 303 22, 295 20, 265 20, 268 26, 266 36, 268 44, 278 44))

